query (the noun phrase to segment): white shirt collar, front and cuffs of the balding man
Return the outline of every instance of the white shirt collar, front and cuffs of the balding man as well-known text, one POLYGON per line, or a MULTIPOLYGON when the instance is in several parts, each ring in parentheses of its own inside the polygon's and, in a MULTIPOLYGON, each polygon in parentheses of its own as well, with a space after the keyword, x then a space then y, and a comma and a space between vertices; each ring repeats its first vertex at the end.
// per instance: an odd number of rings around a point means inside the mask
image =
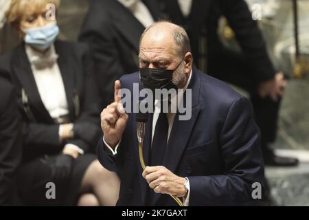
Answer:
MULTIPOLYGON (((190 76, 187 80, 187 83, 186 83, 185 87, 183 88, 184 90, 187 89, 187 86, 189 85, 191 78, 192 78, 192 70, 191 70, 190 76)), ((181 99, 181 97, 179 97, 179 99, 181 99)), ((158 121, 158 118, 159 118, 159 114, 160 114, 160 107, 158 107, 158 103, 159 103, 159 100, 155 100, 155 111, 153 113, 153 119, 152 119, 151 142, 152 142, 153 137, 155 135, 155 127, 156 127, 156 124, 157 124, 157 121, 158 121)), ((170 133, 172 131, 172 127, 173 127, 173 124, 174 124, 175 115, 176 115, 176 113, 166 113, 166 116, 168 117, 168 139, 170 138, 170 133)), ((119 147, 120 142, 115 147, 115 150, 113 150, 113 148, 111 148, 111 146, 109 146, 105 142, 104 138, 103 138, 103 142, 108 147, 108 149, 111 151, 111 153, 113 153, 113 155, 117 154, 117 149, 119 147)), ((190 201, 190 182, 189 182, 189 179, 187 179, 187 181, 188 181, 188 184, 187 184, 188 192, 187 192, 187 197, 185 198, 185 201, 184 201, 184 206, 189 206, 189 201, 190 201)))

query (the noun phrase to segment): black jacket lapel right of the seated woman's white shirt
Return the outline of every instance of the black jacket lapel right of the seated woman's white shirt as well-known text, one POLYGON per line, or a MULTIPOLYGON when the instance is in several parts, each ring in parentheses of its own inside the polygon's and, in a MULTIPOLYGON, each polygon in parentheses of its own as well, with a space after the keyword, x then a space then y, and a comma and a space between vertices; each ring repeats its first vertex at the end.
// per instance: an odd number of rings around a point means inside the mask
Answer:
POLYGON ((72 62, 73 56, 71 55, 71 48, 65 48, 65 44, 61 43, 60 41, 56 41, 55 50, 56 50, 56 53, 59 55, 58 67, 60 69, 63 84, 65 85, 65 94, 67 96, 69 113, 70 113, 71 119, 73 119, 75 118, 73 95, 77 93, 77 91, 74 91, 74 85, 76 83, 75 82, 76 77, 74 76, 74 73, 75 73, 74 67, 76 66, 76 64, 72 62))

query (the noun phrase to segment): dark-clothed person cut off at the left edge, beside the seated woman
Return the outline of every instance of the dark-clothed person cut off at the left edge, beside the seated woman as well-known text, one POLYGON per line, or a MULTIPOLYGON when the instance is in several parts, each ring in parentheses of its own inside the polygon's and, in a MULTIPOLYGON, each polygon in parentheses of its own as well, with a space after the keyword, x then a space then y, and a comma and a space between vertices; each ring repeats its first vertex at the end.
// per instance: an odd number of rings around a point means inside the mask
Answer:
POLYGON ((13 87, 0 75, 0 206, 16 205, 16 168, 21 162, 20 117, 13 87))

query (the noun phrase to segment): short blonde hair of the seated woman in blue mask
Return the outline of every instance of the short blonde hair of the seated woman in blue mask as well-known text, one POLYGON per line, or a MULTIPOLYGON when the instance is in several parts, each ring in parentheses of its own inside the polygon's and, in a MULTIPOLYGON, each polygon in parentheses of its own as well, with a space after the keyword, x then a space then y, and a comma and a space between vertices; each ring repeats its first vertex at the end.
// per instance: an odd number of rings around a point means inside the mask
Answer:
POLYGON ((19 30, 21 19, 27 12, 27 4, 35 5, 35 12, 39 14, 42 8, 46 8, 49 3, 54 4, 56 11, 58 11, 60 0, 12 0, 5 17, 12 27, 19 30))

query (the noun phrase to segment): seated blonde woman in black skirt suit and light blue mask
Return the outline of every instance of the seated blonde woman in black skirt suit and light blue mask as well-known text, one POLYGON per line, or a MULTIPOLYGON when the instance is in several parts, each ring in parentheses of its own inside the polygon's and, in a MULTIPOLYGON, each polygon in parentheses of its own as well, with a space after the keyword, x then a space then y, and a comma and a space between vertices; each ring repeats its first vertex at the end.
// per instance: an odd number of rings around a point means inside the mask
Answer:
POLYGON ((22 115, 18 171, 25 205, 113 206, 119 180, 94 154, 100 138, 98 94, 86 45, 56 40, 58 0, 12 0, 7 20, 21 45, 0 57, 22 115), (56 184, 56 199, 46 184, 56 184))

